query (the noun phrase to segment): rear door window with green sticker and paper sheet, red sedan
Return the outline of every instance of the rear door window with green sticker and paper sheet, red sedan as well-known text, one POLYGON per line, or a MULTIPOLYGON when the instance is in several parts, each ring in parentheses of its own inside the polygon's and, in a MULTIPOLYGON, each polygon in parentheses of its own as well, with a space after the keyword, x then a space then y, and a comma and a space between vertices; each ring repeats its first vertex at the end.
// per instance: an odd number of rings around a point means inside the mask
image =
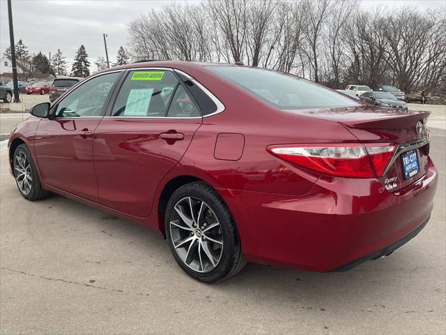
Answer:
POLYGON ((112 117, 166 117, 179 85, 171 71, 130 71, 114 103, 112 117))

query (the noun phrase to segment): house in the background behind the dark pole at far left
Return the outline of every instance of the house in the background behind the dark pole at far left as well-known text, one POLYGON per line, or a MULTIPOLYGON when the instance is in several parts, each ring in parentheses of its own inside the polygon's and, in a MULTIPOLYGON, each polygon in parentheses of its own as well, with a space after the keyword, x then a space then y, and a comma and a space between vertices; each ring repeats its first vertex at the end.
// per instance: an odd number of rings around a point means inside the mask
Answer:
MULTIPOLYGON (((50 73, 40 73, 33 71, 29 62, 17 59, 17 77, 24 82, 35 82, 36 80, 45 80, 52 82, 54 75, 50 73)), ((10 58, 2 56, 0 59, 0 82, 6 84, 13 79, 13 62, 10 58)))

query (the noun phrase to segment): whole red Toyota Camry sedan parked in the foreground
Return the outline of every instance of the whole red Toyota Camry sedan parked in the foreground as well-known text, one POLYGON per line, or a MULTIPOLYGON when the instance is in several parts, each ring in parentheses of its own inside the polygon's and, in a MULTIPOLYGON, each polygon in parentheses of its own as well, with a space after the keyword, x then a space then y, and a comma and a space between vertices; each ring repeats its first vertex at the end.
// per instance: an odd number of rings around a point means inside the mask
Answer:
POLYGON ((424 228, 427 112, 261 68, 153 61, 97 73, 10 136, 27 200, 50 192, 158 230, 187 274, 311 271, 389 255, 424 228))

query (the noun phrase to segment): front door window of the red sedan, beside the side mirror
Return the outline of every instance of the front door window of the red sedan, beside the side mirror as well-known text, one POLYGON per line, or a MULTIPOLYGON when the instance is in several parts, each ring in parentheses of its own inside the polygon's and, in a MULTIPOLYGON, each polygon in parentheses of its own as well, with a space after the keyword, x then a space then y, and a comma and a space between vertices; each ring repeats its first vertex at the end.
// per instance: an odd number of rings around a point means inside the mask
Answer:
POLYGON ((121 73, 94 77, 72 91, 56 106, 56 117, 100 117, 110 89, 121 73))

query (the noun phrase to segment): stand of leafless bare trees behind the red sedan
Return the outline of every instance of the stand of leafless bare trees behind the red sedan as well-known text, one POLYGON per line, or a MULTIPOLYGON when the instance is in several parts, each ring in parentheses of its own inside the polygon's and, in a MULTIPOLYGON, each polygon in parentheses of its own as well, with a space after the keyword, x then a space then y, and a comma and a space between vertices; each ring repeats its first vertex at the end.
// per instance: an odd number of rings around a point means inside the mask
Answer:
POLYGON ((358 0, 206 0, 128 26, 132 59, 244 61, 330 87, 446 86, 445 10, 361 10, 358 0))

